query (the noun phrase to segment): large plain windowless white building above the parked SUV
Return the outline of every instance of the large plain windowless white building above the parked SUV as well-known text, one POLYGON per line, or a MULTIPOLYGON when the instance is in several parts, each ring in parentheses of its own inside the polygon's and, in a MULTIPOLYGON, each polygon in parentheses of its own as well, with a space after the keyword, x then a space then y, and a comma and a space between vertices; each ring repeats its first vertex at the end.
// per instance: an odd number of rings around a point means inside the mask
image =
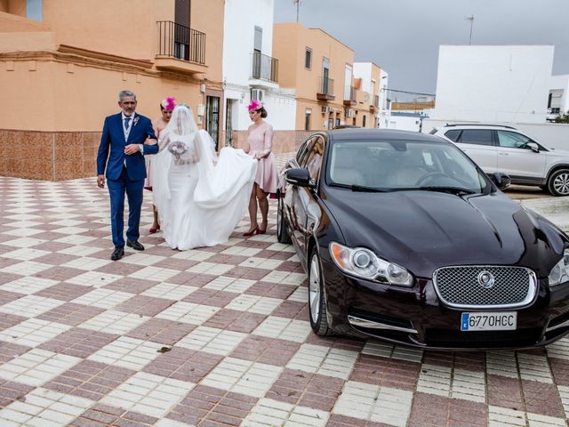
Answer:
POLYGON ((554 46, 450 46, 438 53, 432 118, 544 123, 554 46))

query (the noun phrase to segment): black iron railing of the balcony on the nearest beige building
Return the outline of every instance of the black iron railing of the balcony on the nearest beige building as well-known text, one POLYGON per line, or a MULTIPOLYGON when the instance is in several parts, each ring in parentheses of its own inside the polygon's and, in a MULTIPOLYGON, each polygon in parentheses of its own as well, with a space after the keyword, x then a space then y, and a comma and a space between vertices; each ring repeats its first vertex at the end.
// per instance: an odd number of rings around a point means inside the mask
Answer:
POLYGON ((158 20, 158 55, 205 64, 205 33, 194 28, 158 20))

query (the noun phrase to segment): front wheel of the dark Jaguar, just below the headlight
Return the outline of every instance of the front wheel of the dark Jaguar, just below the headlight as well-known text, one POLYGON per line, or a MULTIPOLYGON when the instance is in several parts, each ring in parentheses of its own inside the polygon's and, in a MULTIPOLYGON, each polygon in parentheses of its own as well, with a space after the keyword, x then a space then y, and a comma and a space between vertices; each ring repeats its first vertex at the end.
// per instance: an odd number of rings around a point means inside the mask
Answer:
POLYGON ((310 253, 309 266, 309 312, 310 326, 318 335, 332 335, 333 331, 328 326, 326 318, 326 302, 324 279, 320 268, 320 258, 317 250, 312 249, 310 253))

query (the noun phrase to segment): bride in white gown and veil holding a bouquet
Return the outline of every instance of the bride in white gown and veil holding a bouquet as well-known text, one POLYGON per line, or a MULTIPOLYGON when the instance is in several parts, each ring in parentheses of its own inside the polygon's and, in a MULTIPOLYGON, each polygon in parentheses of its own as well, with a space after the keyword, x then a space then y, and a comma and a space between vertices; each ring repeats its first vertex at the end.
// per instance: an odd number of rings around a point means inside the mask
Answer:
POLYGON ((227 242, 244 217, 257 162, 229 147, 217 157, 188 105, 173 110, 163 135, 152 161, 152 195, 166 243, 187 250, 227 242))

